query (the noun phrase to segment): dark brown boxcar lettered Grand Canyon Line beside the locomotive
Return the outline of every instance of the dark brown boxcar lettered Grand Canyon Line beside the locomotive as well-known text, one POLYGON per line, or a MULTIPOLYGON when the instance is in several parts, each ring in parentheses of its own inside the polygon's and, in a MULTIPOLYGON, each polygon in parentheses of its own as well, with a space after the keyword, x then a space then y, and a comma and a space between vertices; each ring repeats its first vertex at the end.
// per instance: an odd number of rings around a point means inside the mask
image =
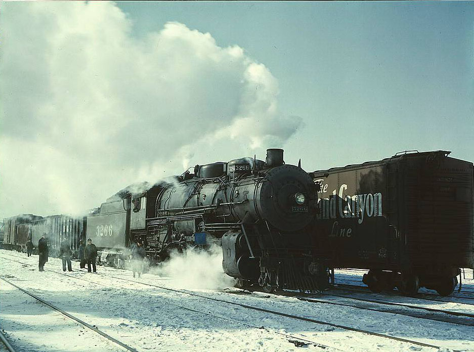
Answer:
POLYGON ((314 236, 336 268, 369 269, 374 291, 450 294, 474 268, 473 166, 450 152, 404 153, 311 173, 321 187, 314 236))

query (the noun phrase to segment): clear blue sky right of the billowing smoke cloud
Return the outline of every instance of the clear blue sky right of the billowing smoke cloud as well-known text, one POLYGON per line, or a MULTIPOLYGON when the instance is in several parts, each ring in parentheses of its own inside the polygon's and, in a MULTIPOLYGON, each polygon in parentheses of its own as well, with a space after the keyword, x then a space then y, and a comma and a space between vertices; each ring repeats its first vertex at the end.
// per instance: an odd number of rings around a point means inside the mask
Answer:
POLYGON ((178 21, 265 64, 282 112, 305 123, 286 143, 288 157, 303 148, 315 168, 407 149, 474 159, 472 2, 118 6, 137 36, 178 21))

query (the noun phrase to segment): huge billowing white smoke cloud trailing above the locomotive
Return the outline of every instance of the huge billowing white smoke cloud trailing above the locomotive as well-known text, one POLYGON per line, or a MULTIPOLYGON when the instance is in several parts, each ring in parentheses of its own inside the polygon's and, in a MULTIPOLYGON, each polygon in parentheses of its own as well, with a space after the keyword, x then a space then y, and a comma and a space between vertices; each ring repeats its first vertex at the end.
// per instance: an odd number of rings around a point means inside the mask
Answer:
POLYGON ((238 46, 114 3, 4 2, 0 212, 80 212, 127 184, 281 147, 301 125, 238 46), (230 154, 231 153, 231 154, 230 154))

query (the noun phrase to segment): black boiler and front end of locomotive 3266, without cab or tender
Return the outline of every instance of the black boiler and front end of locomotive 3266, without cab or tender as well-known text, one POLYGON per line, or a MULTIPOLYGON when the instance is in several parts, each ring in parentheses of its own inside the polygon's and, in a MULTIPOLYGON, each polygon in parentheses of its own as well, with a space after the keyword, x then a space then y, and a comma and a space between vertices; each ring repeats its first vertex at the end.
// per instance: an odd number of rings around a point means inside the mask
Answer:
POLYGON ((327 270, 313 253, 318 186, 282 149, 266 161, 240 158, 196 165, 155 199, 147 243, 161 257, 186 243, 220 242, 226 274, 266 290, 321 290, 327 270))

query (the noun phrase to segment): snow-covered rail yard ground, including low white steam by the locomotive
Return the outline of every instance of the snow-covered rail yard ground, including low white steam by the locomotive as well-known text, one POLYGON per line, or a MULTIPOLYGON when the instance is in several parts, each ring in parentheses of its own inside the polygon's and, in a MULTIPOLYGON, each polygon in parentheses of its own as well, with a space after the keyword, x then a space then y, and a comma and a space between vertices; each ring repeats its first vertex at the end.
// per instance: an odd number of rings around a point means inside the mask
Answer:
MULTIPOLYGON (((143 274, 140 279, 134 279, 129 271, 104 267, 98 267, 98 274, 90 274, 79 270, 78 262, 73 262, 74 272, 64 276, 61 261, 55 258, 50 258, 45 266, 53 272, 39 273, 37 260, 37 255, 28 258, 26 254, 0 250, 0 276, 139 351, 436 350, 205 298, 209 297, 416 340, 440 346, 444 351, 474 352, 472 326, 230 288, 232 280, 222 274, 219 256, 177 258, 166 268, 143 274), (294 340, 308 344, 297 347, 291 342, 294 340)), ((359 278, 357 274, 347 275, 359 278)), ((474 286, 467 285, 471 289, 474 286)), ((443 303, 386 295, 383 298, 394 301, 406 298, 411 304, 435 309, 474 312, 474 305, 469 304, 474 302, 467 299, 443 303)), ((330 300, 345 303, 348 298, 330 300)), ((123 350, 3 280, 0 281, 0 328, 22 351, 123 350)))

